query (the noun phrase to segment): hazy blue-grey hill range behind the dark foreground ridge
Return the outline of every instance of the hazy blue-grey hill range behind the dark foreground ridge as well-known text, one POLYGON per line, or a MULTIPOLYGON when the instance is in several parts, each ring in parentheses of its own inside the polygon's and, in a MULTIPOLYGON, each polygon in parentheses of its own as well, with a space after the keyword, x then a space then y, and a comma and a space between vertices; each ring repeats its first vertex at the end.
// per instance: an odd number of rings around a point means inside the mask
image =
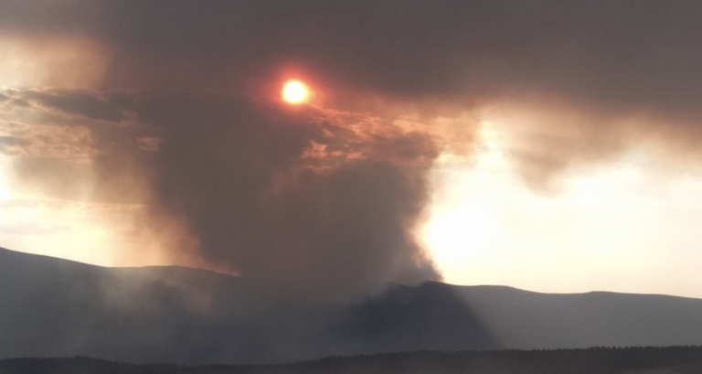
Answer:
POLYGON ((702 345, 702 300, 390 285, 347 305, 267 300, 239 277, 0 249, 0 358, 263 364, 417 350, 702 345))

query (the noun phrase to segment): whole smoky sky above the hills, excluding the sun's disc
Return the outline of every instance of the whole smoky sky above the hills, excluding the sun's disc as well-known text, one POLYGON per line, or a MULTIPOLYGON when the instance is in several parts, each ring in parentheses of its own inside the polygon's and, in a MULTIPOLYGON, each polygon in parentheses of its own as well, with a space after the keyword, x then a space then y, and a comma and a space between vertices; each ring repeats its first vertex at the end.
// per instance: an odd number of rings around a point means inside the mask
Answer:
POLYGON ((702 3, 4 0, 0 246, 702 297, 702 3), (303 82, 303 103, 282 100, 303 82))

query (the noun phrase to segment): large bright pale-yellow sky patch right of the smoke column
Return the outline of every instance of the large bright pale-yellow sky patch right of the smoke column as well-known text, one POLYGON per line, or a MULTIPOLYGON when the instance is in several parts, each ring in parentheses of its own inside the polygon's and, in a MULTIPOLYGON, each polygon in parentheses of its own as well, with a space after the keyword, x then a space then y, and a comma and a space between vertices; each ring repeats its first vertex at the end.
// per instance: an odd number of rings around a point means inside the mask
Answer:
POLYGON ((702 297, 702 174, 639 150, 566 171, 544 194, 517 174, 503 134, 482 136, 471 162, 441 157, 432 171, 420 235, 446 282, 702 297))

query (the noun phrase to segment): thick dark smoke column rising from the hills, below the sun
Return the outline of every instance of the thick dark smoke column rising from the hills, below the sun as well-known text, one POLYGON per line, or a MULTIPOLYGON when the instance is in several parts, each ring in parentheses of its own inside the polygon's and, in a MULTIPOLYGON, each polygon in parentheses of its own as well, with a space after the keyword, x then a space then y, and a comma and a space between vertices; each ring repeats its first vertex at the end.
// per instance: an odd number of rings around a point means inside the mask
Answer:
POLYGON ((412 232, 431 138, 343 132, 337 114, 239 97, 166 97, 143 115, 165 129, 156 219, 184 215, 207 261, 315 297, 438 277, 412 232), (335 156, 303 157, 312 142, 335 156))

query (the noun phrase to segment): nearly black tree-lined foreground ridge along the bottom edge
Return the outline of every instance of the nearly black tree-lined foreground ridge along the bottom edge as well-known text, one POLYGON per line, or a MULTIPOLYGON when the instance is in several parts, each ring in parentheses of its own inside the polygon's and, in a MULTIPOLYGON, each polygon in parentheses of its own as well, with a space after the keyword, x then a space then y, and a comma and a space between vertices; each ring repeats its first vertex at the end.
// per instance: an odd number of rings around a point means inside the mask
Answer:
POLYGON ((0 360, 0 374, 699 374, 702 347, 404 352, 267 366, 133 365, 95 358, 0 360))

